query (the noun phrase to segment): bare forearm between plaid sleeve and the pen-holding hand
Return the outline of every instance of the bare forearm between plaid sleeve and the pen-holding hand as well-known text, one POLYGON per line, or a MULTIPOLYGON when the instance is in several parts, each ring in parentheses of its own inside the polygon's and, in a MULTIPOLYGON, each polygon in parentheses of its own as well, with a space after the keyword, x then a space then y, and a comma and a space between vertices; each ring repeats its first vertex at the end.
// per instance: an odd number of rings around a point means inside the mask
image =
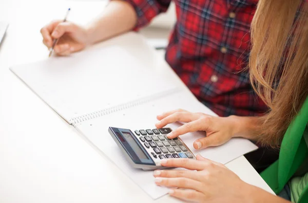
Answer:
POLYGON ((111 1, 101 16, 87 27, 88 44, 94 44, 130 31, 137 23, 137 14, 133 7, 123 1, 111 1))

